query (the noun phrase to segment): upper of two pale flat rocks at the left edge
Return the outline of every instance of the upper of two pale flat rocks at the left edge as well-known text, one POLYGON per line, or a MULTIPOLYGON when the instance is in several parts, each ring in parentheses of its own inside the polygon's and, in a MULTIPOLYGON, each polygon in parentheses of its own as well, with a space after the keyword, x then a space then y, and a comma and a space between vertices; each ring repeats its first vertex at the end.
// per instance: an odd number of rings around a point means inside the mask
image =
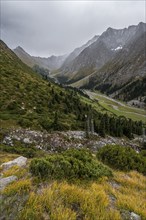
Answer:
POLYGON ((1 164, 1 167, 2 167, 4 170, 7 170, 7 169, 9 169, 10 167, 15 166, 15 165, 20 166, 20 167, 25 166, 25 165, 26 165, 26 162, 27 162, 27 158, 21 156, 21 157, 18 157, 18 158, 16 158, 16 159, 12 160, 12 161, 9 161, 9 162, 6 162, 6 163, 1 164))

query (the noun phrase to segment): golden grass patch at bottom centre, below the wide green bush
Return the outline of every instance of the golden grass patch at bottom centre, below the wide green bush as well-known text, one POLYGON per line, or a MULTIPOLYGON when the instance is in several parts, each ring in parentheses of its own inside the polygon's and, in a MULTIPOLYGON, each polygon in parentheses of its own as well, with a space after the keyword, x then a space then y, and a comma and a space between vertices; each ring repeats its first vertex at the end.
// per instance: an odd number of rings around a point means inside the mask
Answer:
POLYGON ((54 182, 40 194, 30 194, 21 219, 120 220, 118 210, 109 209, 109 198, 102 185, 82 187, 66 182, 54 182), (32 211, 33 210, 33 211, 32 211))

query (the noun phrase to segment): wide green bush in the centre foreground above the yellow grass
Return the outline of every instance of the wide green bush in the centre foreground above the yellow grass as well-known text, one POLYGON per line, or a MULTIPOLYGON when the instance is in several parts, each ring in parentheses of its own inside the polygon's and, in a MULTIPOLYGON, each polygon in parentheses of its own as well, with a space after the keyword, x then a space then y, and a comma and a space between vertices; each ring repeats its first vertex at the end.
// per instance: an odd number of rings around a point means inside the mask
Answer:
POLYGON ((34 176, 53 179, 97 179, 111 176, 110 168, 98 162, 85 150, 67 150, 62 154, 52 154, 43 159, 33 159, 30 171, 34 176))

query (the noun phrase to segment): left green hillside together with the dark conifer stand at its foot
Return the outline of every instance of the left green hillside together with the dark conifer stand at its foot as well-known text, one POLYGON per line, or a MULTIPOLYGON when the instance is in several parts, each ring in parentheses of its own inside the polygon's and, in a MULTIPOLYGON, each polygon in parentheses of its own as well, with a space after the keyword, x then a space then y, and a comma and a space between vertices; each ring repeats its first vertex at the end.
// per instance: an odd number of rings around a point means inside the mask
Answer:
POLYGON ((142 123, 118 118, 113 112, 109 117, 106 108, 88 99, 81 91, 61 87, 43 80, 1 41, 1 127, 20 126, 31 129, 87 130, 87 119, 94 118, 95 131, 131 138, 141 135, 142 123), (94 105, 95 103, 95 105, 94 105), (97 105, 98 104, 98 105, 97 105), (105 111, 98 111, 103 108, 105 111), (116 125, 117 124, 117 125, 116 125), (119 132, 114 127, 119 127, 119 132))

